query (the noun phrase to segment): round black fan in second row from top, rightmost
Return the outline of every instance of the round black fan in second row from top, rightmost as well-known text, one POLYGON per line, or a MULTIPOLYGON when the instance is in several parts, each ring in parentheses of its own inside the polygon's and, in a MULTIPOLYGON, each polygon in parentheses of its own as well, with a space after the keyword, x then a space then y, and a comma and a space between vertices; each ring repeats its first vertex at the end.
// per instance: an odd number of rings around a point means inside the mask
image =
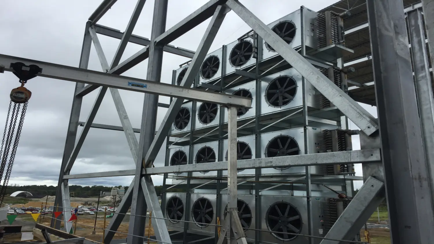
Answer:
POLYGON ((273 79, 265 90, 265 101, 271 107, 283 107, 293 101, 297 93, 294 78, 282 75, 273 79))

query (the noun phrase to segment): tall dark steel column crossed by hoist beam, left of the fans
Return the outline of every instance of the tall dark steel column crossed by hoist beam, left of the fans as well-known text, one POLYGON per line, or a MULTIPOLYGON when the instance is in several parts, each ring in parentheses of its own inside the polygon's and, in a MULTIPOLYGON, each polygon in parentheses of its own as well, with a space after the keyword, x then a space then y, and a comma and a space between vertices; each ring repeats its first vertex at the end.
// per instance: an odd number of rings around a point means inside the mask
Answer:
MULTIPOLYGON (((163 62, 163 46, 153 45, 155 38, 164 33, 166 29, 166 16, 167 16, 168 0, 155 0, 154 2, 154 14, 152 18, 152 31, 151 31, 151 45, 149 45, 149 59, 148 59, 148 71, 146 79, 150 81, 160 81, 161 78, 161 65, 163 62)), ((146 153, 148 153, 152 140, 155 136, 155 127, 157 123, 157 110, 158 110, 158 95, 145 94, 143 101, 143 114, 140 127, 140 140, 139 150, 136 162, 136 174, 134 177, 135 187, 133 189, 132 204, 131 204, 131 216, 128 228, 128 234, 132 234, 127 238, 128 244, 142 243, 145 234, 146 218, 138 217, 134 215, 146 215, 147 202, 145 201, 145 194, 141 186, 141 169, 143 168, 143 160, 146 153), (138 237, 140 236, 140 237, 138 237)), ((148 184, 152 184, 151 176, 147 177, 148 184)), ((149 204, 149 203, 148 203, 149 204)), ((156 211, 156 209, 152 209, 156 211)), ((153 221, 155 229, 155 237, 160 239, 157 234, 158 220, 153 221)), ((167 232, 167 230, 166 230, 167 232)), ((164 235, 164 233, 163 233, 164 235)), ((170 240, 170 239, 169 239, 170 240)))

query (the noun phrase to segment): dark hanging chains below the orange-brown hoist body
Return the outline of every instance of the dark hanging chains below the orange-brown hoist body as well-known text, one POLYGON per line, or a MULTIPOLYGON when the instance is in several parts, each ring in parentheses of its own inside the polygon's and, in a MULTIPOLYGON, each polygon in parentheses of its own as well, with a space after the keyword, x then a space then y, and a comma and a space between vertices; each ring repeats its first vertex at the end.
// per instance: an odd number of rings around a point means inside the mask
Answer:
MULTIPOLYGON (((3 203, 4 196, 6 194, 7 184, 9 183, 10 173, 12 171, 13 162, 15 160, 16 149, 18 147, 18 142, 20 141, 21 130, 23 128, 24 116, 26 115, 27 102, 23 104, 23 110, 20 115, 20 121, 18 122, 18 128, 16 128, 16 121, 18 115, 20 114, 21 104, 10 101, 9 110, 7 112, 6 125, 3 132, 3 140, 0 148, 1 165, 0 165, 0 176, 3 176, 3 185, 0 189, 0 206, 3 203), (12 107, 12 114, 10 109, 12 107), (8 127, 9 122, 9 127, 8 127), (12 140, 14 138, 14 132, 16 128, 15 140, 12 145, 12 140), (7 135, 6 135, 7 131, 7 135), (5 144, 6 138, 6 144, 5 144), (12 151, 10 152, 10 147, 12 146, 12 151), (8 163, 9 158, 9 163, 8 163), (4 169, 6 168, 6 163, 8 163, 6 174, 3 175, 4 169)), ((1 180, 1 178, 0 178, 1 180)))

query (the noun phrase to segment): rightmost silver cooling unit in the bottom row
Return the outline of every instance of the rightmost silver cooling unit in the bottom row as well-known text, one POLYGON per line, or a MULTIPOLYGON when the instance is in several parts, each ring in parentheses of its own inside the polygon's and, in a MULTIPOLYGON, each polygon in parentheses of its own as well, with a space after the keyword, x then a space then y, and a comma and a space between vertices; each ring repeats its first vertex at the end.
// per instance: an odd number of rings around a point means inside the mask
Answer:
MULTIPOLYGON (((275 191, 276 195, 261 196, 261 228, 266 231, 283 233, 262 234, 261 241, 276 244, 305 244, 307 237, 294 234, 308 234, 308 217, 306 198, 287 196, 287 191, 275 191), (285 234, 286 233, 286 234, 285 234)), ((324 237, 322 216, 325 198, 312 200, 312 235, 324 237)), ((312 238, 314 244, 322 240, 312 238)))

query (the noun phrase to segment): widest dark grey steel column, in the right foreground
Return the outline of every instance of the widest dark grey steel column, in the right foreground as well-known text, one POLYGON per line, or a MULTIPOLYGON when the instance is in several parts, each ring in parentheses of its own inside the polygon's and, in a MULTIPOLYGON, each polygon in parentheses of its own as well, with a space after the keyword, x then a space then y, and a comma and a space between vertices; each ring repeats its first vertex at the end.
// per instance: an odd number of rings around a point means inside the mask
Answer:
POLYGON ((392 243, 434 243, 404 7, 398 0, 366 3, 392 243))

